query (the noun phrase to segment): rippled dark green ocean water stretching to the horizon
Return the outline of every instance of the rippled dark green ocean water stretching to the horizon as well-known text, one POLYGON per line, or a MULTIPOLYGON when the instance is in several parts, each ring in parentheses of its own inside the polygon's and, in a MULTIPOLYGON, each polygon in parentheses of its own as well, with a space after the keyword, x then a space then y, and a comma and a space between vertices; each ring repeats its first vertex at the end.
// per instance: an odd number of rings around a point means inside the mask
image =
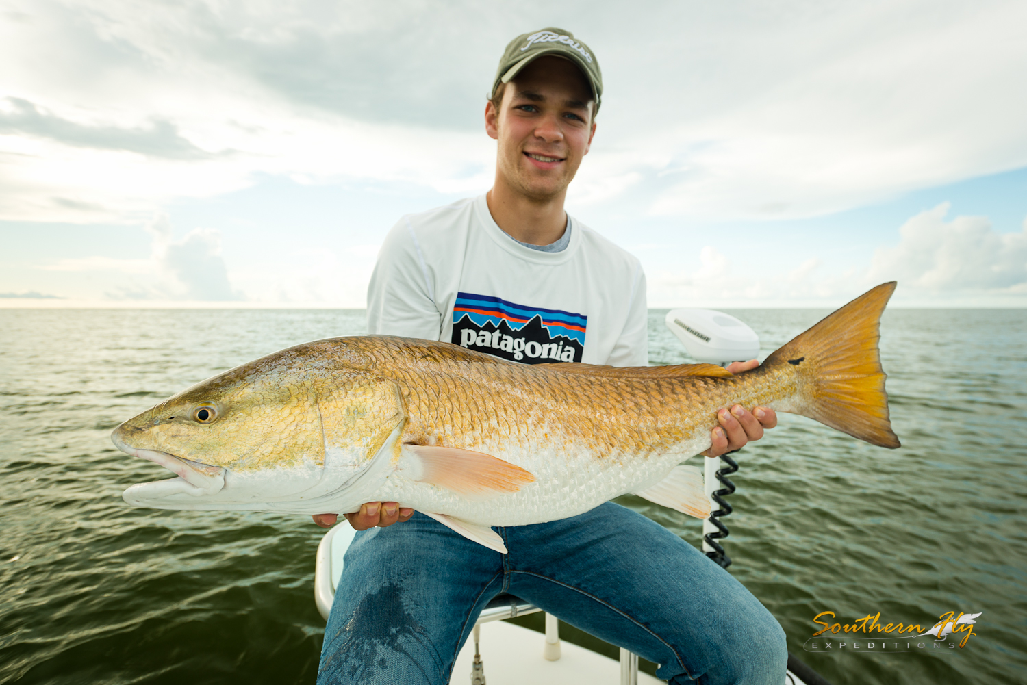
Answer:
MULTIPOLYGON (((826 312, 732 313, 765 355, 826 312)), ((662 314, 651 363, 686 361, 662 314)), ((109 433, 222 370, 364 327, 345 310, 0 309, 0 682, 313 683, 322 531, 128 507, 125 486, 167 472, 109 433)), ((784 415, 736 455, 730 571, 832 683, 1027 681, 1024 341, 1024 310, 886 311, 900 450, 784 415), (822 611, 924 630, 947 611, 981 616, 962 649, 805 652, 822 611)), ((698 544, 699 522, 621 501, 698 544)))

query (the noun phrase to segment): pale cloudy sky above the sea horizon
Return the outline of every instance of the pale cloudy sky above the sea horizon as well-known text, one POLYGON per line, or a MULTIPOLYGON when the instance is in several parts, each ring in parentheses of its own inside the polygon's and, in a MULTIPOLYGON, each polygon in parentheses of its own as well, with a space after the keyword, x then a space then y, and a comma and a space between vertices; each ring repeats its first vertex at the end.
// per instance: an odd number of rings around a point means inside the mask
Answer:
POLYGON ((550 26, 603 70, 567 210, 650 306, 1027 306, 1019 0, 0 0, 0 307, 363 307, 550 26))

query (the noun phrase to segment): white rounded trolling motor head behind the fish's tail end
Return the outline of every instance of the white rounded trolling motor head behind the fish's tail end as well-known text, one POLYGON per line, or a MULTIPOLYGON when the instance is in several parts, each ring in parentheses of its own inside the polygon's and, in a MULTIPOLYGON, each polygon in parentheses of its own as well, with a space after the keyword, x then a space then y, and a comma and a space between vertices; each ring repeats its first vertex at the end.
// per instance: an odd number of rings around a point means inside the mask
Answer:
POLYGON ((696 361, 726 367, 755 359, 760 351, 756 332, 730 314, 713 309, 672 309, 667 328, 696 361))

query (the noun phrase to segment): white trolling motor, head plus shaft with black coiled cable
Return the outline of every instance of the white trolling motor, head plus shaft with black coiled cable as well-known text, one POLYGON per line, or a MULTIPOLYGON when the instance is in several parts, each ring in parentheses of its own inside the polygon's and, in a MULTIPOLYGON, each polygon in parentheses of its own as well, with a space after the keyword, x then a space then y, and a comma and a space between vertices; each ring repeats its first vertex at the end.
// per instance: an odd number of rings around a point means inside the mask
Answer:
MULTIPOLYGON (((760 339, 756 332, 722 311, 672 309, 667 312, 664 320, 667 328, 696 361, 726 367, 732 361, 755 359, 760 352, 760 339)), ((724 497, 734 492, 734 484, 726 477, 738 470, 738 463, 729 454, 721 455, 720 459, 702 460, 706 493, 711 500, 710 518, 702 522, 702 551, 724 568, 731 564, 731 558, 717 541, 727 537, 727 526, 719 519, 731 512, 731 505, 724 497), (726 466, 718 470, 717 465, 721 461, 726 466), (720 490, 717 489, 718 481, 724 486, 720 490)))

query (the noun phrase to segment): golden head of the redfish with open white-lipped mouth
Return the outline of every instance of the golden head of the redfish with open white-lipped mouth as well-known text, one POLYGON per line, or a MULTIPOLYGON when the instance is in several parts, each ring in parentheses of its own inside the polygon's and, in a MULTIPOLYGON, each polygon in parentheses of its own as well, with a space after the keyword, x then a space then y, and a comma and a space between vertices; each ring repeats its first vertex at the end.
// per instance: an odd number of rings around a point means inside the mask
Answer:
POLYGON ((119 425, 111 436, 118 449, 178 475, 135 485, 125 501, 246 508, 325 496, 362 473, 404 421, 394 385, 290 351, 197 383, 119 425))

